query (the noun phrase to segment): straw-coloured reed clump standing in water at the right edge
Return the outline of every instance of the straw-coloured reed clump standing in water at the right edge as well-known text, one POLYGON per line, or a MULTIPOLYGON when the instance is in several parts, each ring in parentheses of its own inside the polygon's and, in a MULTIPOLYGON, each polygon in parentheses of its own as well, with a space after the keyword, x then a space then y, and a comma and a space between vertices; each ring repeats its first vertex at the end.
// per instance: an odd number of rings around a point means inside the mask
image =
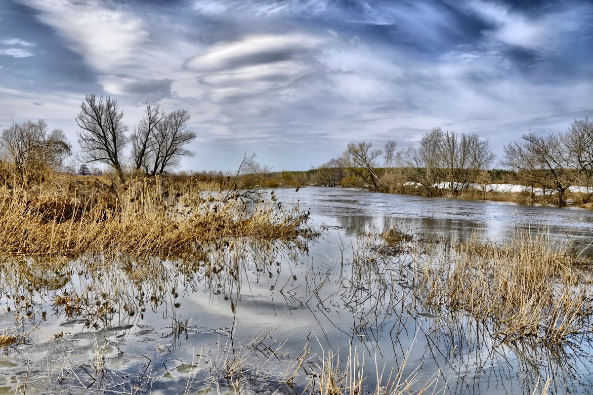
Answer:
POLYGON ((495 326, 503 341, 554 344, 591 332, 593 290, 585 262, 553 248, 546 235, 515 235, 508 243, 476 239, 435 245, 416 258, 415 297, 468 311, 495 326))

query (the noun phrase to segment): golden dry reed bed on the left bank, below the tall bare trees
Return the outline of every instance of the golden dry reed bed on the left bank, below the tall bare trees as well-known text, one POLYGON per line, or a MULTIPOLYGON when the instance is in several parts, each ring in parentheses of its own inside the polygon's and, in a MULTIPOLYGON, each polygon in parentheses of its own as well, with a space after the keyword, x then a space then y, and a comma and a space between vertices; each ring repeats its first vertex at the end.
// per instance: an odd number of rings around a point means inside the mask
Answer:
POLYGON ((267 202, 251 211, 240 200, 216 201, 191 185, 160 179, 119 188, 74 182, 4 191, 0 256, 183 256, 221 240, 295 238, 307 219, 308 213, 298 208, 267 202))

